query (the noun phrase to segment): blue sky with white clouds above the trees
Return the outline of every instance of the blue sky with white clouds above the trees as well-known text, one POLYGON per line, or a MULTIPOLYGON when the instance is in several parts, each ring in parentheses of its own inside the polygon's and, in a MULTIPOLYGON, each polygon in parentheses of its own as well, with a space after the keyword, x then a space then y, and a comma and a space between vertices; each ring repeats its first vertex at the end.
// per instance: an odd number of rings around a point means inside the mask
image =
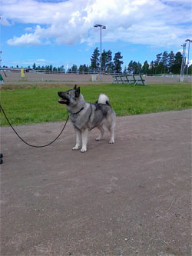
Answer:
MULTIPOLYGON (((0 0, 2 66, 91 65, 96 47, 143 64, 192 40, 191 0, 0 0), (105 25, 106 29, 94 28, 105 25)), ((192 44, 190 44, 192 59, 192 44)), ((188 44, 187 44, 188 49, 188 44)), ((186 52, 188 55, 188 52, 186 52)))

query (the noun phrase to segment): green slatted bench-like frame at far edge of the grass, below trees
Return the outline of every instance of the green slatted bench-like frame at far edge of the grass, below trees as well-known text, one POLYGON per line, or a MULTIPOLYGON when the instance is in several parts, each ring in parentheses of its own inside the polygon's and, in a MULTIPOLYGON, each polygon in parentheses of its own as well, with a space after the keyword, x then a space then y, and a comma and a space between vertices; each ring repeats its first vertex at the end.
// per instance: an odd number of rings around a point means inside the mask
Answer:
POLYGON ((114 82, 118 84, 133 84, 135 85, 146 85, 142 75, 113 75, 114 82))

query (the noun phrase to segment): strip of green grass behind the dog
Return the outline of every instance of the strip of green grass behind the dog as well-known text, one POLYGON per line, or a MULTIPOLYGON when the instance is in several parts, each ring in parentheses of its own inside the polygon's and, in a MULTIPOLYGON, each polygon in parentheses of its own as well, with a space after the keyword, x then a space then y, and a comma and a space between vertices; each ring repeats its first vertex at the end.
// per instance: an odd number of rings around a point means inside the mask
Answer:
MULTIPOLYGON (((1 104, 12 125, 63 121, 68 113, 65 105, 58 104, 57 92, 68 88, 2 90, 1 104)), ((118 116, 191 108, 190 84, 88 85, 81 87, 81 93, 89 102, 97 101, 100 93, 108 95, 118 116)), ((1 114, 1 126, 3 125, 8 123, 1 114)))

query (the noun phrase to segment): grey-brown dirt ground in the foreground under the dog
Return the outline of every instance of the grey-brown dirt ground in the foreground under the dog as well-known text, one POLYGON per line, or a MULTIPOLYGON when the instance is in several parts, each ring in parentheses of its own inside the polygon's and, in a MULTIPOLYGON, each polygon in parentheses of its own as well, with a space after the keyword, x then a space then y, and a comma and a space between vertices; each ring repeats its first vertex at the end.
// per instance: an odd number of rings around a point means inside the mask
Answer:
MULTIPOLYGON (((18 126, 53 140, 61 122, 18 126)), ((1 128, 1 255, 190 255, 191 111, 117 118, 88 152, 1 128)))

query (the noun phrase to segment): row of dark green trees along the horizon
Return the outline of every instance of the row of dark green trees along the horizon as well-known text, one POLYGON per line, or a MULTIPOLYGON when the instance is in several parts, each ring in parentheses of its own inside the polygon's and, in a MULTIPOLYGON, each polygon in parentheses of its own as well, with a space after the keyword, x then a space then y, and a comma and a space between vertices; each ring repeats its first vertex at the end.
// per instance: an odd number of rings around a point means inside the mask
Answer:
MULTIPOLYGON (((58 72, 80 72, 80 73, 102 73, 107 74, 117 74, 117 73, 130 73, 130 74, 146 74, 146 75, 160 75, 160 74, 180 74, 180 67, 182 62, 182 54, 177 52, 174 54, 173 51, 168 53, 167 51, 159 53, 156 55, 156 59, 148 63, 144 62, 142 65, 140 62, 135 62, 131 60, 129 64, 124 66, 122 61, 121 52, 116 52, 114 58, 112 57, 111 50, 106 52, 105 50, 100 53, 98 47, 94 49, 93 54, 91 55, 90 61, 91 65, 72 65, 71 68, 66 70, 64 65, 61 67, 53 67, 52 65, 45 66, 36 66, 35 63, 32 66, 32 69, 35 70, 44 70, 44 71, 58 71, 58 72), (101 56, 100 56, 101 55, 101 56), (100 65, 101 58, 101 65, 100 65)), ((186 73, 187 65, 185 66, 186 73)), ((188 74, 192 74, 192 65, 188 68, 188 74)))

